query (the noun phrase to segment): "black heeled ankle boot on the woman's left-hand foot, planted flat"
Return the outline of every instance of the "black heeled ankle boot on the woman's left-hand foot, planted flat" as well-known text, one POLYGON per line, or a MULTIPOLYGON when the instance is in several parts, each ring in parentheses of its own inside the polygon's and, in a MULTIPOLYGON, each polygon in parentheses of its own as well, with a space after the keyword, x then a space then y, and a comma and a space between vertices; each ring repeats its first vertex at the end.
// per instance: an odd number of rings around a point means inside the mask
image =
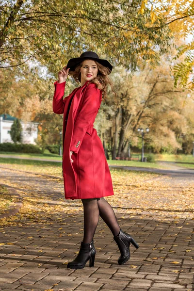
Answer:
POLYGON ((67 264, 68 269, 82 269, 90 259, 89 267, 94 267, 94 260, 96 255, 96 249, 94 241, 89 243, 81 242, 81 247, 78 256, 67 264))

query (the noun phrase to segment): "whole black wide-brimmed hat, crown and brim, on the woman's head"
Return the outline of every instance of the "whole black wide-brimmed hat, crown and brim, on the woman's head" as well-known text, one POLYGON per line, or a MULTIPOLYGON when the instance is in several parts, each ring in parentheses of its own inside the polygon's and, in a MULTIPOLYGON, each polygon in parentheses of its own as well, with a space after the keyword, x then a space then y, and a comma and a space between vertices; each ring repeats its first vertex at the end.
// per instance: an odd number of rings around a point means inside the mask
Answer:
MULTIPOLYGON (((97 53, 94 51, 85 51, 81 54, 81 56, 79 58, 70 59, 67 63, 66 68, 67 69, 70 68, 69 71, 74 71, 77 65, 79 65, 82 61, 87 60, 87 59, 94 60, 94 61, 98 62, 99 64, 109 68, 110 73, 113 69, 113 66, 109 63, 109 61, 100 59, 98 57, 97 53)), ((110 73, 108 73, 108 75, 110 73)))

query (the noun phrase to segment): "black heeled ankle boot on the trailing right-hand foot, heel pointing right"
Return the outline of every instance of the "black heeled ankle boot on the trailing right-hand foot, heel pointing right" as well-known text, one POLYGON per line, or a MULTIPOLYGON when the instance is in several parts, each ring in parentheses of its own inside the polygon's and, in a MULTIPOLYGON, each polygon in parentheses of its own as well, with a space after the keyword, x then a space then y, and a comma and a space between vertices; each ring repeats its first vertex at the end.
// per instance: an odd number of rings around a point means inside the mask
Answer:
POLYGON ((118 259, 118 264, 122 265, 130 259, 130 250, 129 245, 130 242, 134 245, 134 247, 138 248, 139 245, 137 242, 133 240, 133 238, 126 232, 124 232, 122 229, 120 229, 120 232, 117 236, 113 237, 114 241, 117 243, 118 248, 120 250, 120 257, 118 259))

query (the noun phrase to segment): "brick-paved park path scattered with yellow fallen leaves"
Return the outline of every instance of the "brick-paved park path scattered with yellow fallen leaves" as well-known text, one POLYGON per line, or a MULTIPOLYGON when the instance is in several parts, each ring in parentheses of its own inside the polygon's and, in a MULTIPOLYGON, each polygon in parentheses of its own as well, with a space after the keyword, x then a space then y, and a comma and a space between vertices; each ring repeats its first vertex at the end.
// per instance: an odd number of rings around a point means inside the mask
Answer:
POLYGON ((0 290, 193 290, 194 215, 184 197, 194 191, 194 176, 171 174, 122 194, 119 207, 109 199, 121 228, 140 244, 131 247, 126 264, 117 264, 117 245, 100 218, 94 268, 87 263, 70 270, 67 261, 77 255, 83 236, 81 202, 64 200, 62 179, 0 167, 0 183, 16 189, 24 203, 0 226, 0 290))

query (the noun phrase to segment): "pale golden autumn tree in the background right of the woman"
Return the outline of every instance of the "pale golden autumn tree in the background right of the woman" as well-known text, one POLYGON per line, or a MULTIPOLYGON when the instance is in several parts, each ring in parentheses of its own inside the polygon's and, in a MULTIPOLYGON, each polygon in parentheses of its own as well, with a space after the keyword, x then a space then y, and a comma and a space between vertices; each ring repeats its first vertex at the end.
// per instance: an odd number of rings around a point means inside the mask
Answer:
MULTIPOLYGON (((156 68, 148 64, 130 75, 124 68, 113 73, 117 102, 107 99, 114 113, 107 113, 112 125, 107 129, 106 142, 111 145, 112 157, 128 156, 129 142, 138 145, 138 127, 149 127, 147 145, 155 152, 162 149, 181 149, 180 136, 189 129, 188 92, 174 88, 174 78, 169 73, 168 62, 162 61, 156 68)), ((189 106, 194 109, 190 97, 189 106)), ((191 119, 191 116, 190 116, 191 119)), ((191 123, 191 122, 190 122, 191 123)))

